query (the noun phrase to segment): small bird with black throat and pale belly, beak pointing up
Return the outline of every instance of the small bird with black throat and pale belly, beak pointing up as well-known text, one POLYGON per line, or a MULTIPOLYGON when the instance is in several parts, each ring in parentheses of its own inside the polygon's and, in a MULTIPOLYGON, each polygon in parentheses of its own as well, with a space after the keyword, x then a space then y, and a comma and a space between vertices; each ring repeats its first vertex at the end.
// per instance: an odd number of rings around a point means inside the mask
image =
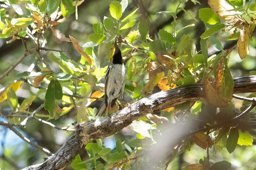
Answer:
MULTIPOLYGON (((119 96, 123 98, 124 85, 125 85, 125 67, 123 63, 122 53, 117 46, 117 42, 115 42, 115 46, 113 48, 114 55, 112 61, 108 65, 108 69, 105 76, 105 102, 103 101, 100 105, 96 116, 102 116, 108 107, 109 114, 109 106, 111 108, 115 105, 116 99, 119 96)), ((110 59, 110 60, 111 60, 110 59)))

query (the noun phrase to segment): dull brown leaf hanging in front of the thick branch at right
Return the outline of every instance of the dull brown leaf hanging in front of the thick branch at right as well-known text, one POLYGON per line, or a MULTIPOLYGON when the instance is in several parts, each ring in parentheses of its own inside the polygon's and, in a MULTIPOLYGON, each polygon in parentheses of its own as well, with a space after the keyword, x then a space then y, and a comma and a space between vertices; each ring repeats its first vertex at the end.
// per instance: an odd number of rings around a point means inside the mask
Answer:
POLYGON ((209 79, 204 81, 204 93, 209 103, 217 107, 227 107, 228 102, 220 99, 219 93, 216 92, 216 82, 210 82, 209 79))

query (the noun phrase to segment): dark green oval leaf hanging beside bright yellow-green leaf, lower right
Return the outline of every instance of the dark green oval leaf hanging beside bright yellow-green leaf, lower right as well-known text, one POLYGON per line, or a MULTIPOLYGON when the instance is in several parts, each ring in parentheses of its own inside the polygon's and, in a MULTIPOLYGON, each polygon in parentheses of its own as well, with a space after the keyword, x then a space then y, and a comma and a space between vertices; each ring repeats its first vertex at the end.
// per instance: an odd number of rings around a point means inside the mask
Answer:
POLYGON ((235 151, 238 138, 239 138, 238 129, 237 128, 232 128, 230 130, 228 140, 227 140, 227 145, 226 145, 226 148, 227 148, 229 153, 232 153, 232 152, 235 151))

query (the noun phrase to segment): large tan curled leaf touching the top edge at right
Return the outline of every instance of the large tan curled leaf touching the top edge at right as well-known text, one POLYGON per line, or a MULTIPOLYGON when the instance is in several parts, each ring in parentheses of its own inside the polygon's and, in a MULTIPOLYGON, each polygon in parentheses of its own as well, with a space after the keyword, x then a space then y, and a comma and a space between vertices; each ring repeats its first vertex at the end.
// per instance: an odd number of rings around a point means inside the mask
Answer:
POLYGON ((234 7, 229 5, 226 0, 208 0, 208 4, 211 6, 212 10, 224 21, 235 26, 243 23, 237 16, 227 16, 231 13, 231 11, 228 10, 232 10, 234 7))

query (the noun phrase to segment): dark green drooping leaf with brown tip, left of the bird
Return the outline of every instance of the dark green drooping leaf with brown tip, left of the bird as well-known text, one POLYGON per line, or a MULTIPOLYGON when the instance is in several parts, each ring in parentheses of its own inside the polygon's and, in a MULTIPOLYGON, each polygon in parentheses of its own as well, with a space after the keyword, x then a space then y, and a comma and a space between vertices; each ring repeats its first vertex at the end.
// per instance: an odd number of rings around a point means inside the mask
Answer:
POLYGON ((55 109, 58 107, 58 105, 55 104, 55 101, 61 100, 62 96, 63 93, 60 82, 58 80, 51 80, 45 94, 44 102, 44 109, 48 110, 51 118, 58 117, 58 115, 54 115, 54 113, 56 113, 55 109))

